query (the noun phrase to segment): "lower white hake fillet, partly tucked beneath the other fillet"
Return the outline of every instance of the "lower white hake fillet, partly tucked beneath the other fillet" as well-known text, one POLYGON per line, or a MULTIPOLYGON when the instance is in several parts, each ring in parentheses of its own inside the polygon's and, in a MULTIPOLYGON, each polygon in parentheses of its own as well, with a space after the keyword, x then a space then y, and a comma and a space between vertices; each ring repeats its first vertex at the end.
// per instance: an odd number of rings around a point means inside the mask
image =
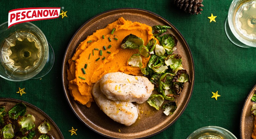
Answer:
POLYGON ((92 94, 98 107, 114 121, 130 126, 138 118, 137 107, 133 103, 108 99, 100 91, 99 81, 94 84, 92 94))

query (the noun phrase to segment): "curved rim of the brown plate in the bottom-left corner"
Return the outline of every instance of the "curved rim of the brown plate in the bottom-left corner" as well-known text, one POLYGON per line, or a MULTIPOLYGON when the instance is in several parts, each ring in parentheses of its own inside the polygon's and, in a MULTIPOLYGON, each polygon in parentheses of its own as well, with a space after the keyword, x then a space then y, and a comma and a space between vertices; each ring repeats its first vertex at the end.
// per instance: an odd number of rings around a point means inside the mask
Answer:
POLYGON ((0 101, 1 101, 1 100, 8 100, 8 101, 12 101, 12 102, 22 102, 22 103, 24 103, 26 106, 27 106, 27 105, 28 105, 28 106, 31 106, 31 107, 35 108, 36 110, 38 110, 40 113, 45 114, 45 115, 47 116, 47 118, 49 118, 50 121, 53 123, 53 125, 55 126, 55 128, 58 130, 58 132, 59 132, 60 135, 61 135, 61 138, 65 139, 64 136, 63 136, 63 134, 62 134, 62 132, 61 132, 61 130, 59 129, 59 127, 57 126, 57 124, 53 121, 53 119, 52 119, 48 114, 46 114, 44 111, 42 111, 41 109, 39 109, 38 107, 36 107, 35 105, 33 105, 33 104, 31 104, 31 103, 29 103, 29 102, 27 102, 27 101, 24 101, 24 100, 15 99, 15 98, 9 98, 9 97, 0 97, 0 101))

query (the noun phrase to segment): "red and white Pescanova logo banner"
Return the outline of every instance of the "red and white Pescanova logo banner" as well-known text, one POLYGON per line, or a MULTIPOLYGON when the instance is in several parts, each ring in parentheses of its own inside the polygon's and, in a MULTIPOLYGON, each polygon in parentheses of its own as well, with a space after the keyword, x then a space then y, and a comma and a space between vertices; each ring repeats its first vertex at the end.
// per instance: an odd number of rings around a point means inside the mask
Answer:
POLYGON ((13 9, 10 10, 8 14, 8 28, 23 22, 58 18, 59 13, 60 7, 13 9))

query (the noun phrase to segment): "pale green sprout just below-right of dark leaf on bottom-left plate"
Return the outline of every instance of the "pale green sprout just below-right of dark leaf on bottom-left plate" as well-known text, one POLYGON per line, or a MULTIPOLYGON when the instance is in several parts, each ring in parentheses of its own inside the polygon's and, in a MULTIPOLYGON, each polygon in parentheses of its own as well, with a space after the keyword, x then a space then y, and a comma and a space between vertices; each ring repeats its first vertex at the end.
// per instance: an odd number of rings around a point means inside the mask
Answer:
POLYGON ((22 130, 31 130, 35 127, 35 117, 31 114, 27 114, 26 116, 20 116, 17 120, 17 123, 21 127, 22 130))

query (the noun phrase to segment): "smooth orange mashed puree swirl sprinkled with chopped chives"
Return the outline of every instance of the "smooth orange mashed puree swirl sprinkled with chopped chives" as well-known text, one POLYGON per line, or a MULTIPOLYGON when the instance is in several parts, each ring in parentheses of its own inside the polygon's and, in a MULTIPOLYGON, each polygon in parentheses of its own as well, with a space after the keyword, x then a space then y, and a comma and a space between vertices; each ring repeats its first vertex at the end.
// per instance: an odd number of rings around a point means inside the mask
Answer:
MULTIPOLYGON (((134 34, 142 38, 144 45, 151 38, 154 38, 151 26, 139 22, 131 22, 120 17, 117 21, 107 25, 105 28, 96 30, 96 32, 79 44, 74 56, 68 61, 70 67, 67 70, 69 90, 71 96, 76 101, 90 107, 91 102, 94 101, 92 87, 95 82, 107 73, 123 72, 134 76, 142 75, 140 68, 131 67, 127 64, 129 58, 133 54, 139 53, 139 51, 137 49, 122 49, 120 47, 124 37, 129 34, 134 34), (113 28, 115 28, 115 31, 111 34, 113 28), (104 39, 102 35, 104 35, 104 39), (108 38, 111 39, 111 42, 108 38), (109 45, 111 45, 110 48, 108 48, 109 45), (104 50, 103 46, 107 50, 104 50), (98 50, 95 50, 95 48, 98 50), (102 50, 102 56, 100 56, 100 50, 102 50), (107 53, 107 51, 111 53, 107 53), (102 60, 104 57, 105 59, 102 60), (100 59, 96 61, 98 58, 100 59), (85 64, 87 64, 87 68, 85 68, 85 64), (84 68, 86 74, 83 73, 82 68, 84 68)), ((148 61, 149 58, 142 56, 142 67, 145 67, 148 61)))

